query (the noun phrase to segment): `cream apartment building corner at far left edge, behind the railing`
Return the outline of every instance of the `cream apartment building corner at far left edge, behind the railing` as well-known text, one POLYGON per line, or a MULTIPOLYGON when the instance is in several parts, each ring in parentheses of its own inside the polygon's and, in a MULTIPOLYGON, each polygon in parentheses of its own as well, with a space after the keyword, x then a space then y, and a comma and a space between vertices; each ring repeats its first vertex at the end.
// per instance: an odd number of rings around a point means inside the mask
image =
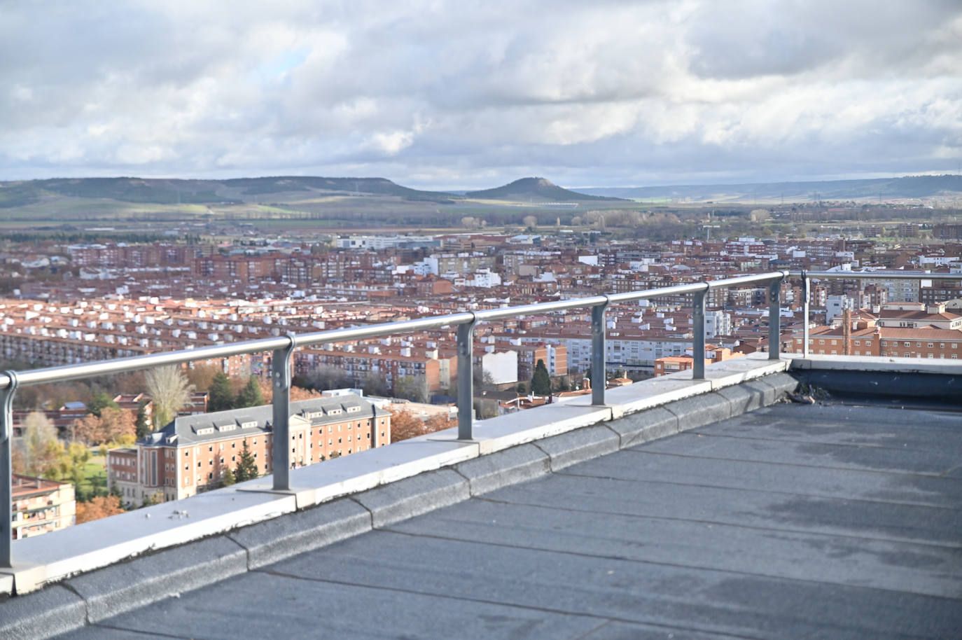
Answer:
POLYGON ((13 540, 74 525, 76 513, 73 485, 69 482, 13 474, 13 540))

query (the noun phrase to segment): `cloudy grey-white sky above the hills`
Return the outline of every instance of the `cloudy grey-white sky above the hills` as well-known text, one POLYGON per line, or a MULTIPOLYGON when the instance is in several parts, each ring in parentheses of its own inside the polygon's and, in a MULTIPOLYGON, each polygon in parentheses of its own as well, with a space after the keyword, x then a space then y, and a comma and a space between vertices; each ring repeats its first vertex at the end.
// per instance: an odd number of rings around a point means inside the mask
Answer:
POLYGON ((0 0, 0 180, 591 187, 960 163, 958 0, 0 0))

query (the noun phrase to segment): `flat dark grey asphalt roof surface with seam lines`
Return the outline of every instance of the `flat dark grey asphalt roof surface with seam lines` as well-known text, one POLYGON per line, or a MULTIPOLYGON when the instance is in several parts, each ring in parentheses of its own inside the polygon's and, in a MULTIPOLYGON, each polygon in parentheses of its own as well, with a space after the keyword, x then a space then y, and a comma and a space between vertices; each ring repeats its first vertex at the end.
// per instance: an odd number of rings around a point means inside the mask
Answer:
POLYGON ((62 637, 950 638, 960 629, 962 414, 782 403, 62 637))

